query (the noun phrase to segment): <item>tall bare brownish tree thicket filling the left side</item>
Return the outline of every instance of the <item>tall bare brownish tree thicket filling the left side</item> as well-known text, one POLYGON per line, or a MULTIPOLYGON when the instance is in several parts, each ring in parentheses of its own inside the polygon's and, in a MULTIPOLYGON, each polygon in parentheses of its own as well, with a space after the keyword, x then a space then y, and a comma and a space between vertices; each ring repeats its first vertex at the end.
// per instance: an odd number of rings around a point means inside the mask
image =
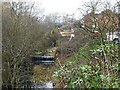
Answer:
POLYGON ((25 2, 4 2, 3 15, 3 85, 21 87, 30 78, 30 55, 44 50, 45 32, 36 12, 25 2))

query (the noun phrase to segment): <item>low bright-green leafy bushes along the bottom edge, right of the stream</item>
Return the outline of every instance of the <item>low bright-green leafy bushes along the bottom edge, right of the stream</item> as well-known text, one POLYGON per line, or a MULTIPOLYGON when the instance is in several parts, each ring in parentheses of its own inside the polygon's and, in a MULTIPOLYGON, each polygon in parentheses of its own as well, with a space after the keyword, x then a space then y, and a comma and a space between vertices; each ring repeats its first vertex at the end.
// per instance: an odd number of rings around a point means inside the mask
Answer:
POLYGON ((63 87, 69 88, 119 88, 117 78, 115 81, 108 83, 109 77, 100 72, 100 66, 77 65, 72 68, 73 64, 63 65, 54 72, 54 77, 64 83, 63 87))

